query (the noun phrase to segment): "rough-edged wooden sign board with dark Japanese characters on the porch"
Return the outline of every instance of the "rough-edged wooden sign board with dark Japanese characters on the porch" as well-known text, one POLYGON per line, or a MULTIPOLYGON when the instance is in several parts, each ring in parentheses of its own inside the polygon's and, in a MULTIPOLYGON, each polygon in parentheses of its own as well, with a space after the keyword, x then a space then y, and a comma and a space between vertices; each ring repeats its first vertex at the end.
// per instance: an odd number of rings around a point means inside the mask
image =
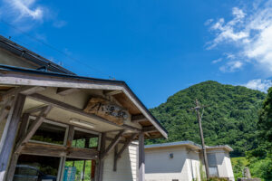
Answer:
POLYGON ((102 98, 92 98, 89 100, 84 111, 110 120, 118 125, 123 125, 125 120, 131 119, 128 110, 121 108, 121 106, 118 106, 114 102, 102 98))

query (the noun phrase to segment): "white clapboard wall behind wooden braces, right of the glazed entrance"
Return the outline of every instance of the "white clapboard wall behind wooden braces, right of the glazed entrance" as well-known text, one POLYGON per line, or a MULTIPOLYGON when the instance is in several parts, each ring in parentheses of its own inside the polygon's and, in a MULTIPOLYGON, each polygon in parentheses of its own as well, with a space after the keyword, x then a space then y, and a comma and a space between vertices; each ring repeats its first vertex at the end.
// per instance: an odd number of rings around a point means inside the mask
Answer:
MULTIPOLYGON (((107 141, 106 145, 109 145, 107 141)), ((119 149, 122 144, 119 144, 119 149)), ((113 172, 114 150, 104 160, 103 180, 105 181, 136 181, 138 167, 138 145, 132 143, 117 162, 117 171, 113 172)))

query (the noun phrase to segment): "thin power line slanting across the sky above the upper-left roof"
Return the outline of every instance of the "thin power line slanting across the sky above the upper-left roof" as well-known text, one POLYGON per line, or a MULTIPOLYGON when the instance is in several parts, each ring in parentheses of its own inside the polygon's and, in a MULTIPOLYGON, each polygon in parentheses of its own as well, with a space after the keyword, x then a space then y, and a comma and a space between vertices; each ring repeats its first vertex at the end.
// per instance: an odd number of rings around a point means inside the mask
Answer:
MULTIPOLYGON (((5 24, 5 25, 7 25, 7 26, 9 26, 9 27, 11 27, 11 28, 13 28, 13 29, 15 29, 16 31, 18 31, 18 32, 20 32, 20 33, 23 33, 25 36, 27 36, 27 37, 33 39, 35 42, 41 43, 41 44, 43 44, 44 46, 47 46, 48 48, 52 49, 53 51, 59 52, 60 54, 63 54, 63 56, 65 56, 66 58, 72 60, 73 62, 78 62, 78 63, 80 63, 80 64, 86 66, 87 68, 89 68, 89 69, 92 70, 92 71, 97 71, 97 72, 101 73, 102 75, 105 75, 105 76, 109 77, 109 79, 115 80, 115 78, 112 77, 111 75, 109 75, 109 74, 107 74, 107 73, 105 73, 105 72, 103 72, 103 71, 100 71, 100 70, 98 70, 98 69, 96 69, 96 68, 93 68, 93 67, 91 67, 91 66, 90 66, 89 64, 87 64, 87 63, 84 63, 84 62, 81 62, 81 61, 75 59, 73 56, 67 54, 66 52, 60 51, 59 49, 53 47, 53 46, 52 46, 51 44, 49 44, 49 43, 44 43, 44 42, 42 42, 41 40, 35 38, 34 36, 30 35, 29 33, 25 33, 25 32, 22 31, 21 29, 17 28, 15 25, 9 24, 9 23, 5 22, 3 19, 0 19, 0 22, 2 22, 3 24, 5 24)), ((11 38, 11 37, 9 36, 9 38, 11 38)), ((25 43, 24 43, 24 44, 25 44, 25 43)))

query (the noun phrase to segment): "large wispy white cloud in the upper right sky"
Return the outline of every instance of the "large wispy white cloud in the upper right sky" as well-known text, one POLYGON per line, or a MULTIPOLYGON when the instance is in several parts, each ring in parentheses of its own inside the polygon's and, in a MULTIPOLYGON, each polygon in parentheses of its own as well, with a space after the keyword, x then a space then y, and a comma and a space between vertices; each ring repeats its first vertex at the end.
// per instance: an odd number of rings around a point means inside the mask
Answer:
MULTIPOLYGON (((233 18, 226 22, 220 18, 210 24, 210 31, 215 34, 208 49, 228 44, 236 49, 231 52, 233 59, 238 59, 234 67, 241 68, 252 63, 257 69, 272 75, 272 0, 254 4, 252 12, 238 7, 232 8, 233 18), (247 12, 247 14, 245 13, 247 12), (241 61, 243 60, 243 61, 241 61)), ((229 67, 229 62, 226 66, 229 67)))

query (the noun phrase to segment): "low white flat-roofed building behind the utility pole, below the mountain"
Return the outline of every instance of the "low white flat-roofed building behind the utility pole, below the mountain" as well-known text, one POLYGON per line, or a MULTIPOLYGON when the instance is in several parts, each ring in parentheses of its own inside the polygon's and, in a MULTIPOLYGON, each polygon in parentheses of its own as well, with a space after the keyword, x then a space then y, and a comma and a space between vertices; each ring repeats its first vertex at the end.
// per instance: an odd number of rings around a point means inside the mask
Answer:
MULTIPOLYGON (((227 145, 207 147, 210 176, 234 181, 229 158, 232 150, 227 145)), ((201 146, 192 141, 148 145, 145 154, 146 181, 191 181, 205 176, 201 146)))

